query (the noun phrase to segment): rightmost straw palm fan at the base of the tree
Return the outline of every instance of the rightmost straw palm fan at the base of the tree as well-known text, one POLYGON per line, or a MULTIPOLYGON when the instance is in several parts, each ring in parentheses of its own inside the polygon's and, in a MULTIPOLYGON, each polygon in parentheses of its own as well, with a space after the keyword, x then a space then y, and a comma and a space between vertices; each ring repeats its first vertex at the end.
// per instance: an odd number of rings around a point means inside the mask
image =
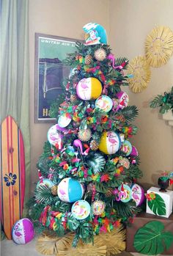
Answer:
POLYGON ((95 242, 100 246, 107 246, 106 256, 117 255, 125 250, 125 229, 120 225, 114 228, 111 233, 100 233, 95 236, 95 242))

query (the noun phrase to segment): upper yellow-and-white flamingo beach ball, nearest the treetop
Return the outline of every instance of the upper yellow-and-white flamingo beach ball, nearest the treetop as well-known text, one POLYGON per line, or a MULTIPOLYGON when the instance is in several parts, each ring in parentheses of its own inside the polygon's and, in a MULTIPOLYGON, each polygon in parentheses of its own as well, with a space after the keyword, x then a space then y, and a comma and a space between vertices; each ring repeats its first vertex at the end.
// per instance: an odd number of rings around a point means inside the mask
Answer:
POLYGON ((76 93, 81 100, 95 100, 102 92, 101 82, 94 77, 81 79, 76 86, 76 93))

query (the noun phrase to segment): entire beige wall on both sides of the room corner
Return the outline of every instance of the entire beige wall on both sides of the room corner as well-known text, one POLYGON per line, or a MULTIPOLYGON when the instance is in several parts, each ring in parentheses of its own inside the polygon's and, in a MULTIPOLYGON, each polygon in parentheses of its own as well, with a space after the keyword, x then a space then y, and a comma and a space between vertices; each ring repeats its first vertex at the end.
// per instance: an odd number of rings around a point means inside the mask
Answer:
MULTIPOLYGON (((34 123, 34 33, 84 39, 82 26, 94 21, 103 25, 115 56, 132 59, 144 54, 144 40, 155 25, 173 29, 172 0, 29 0, 29 51, 31 84, 32 191, 37 180, 36 163, 43 151, 50 124, 34 123)), ((173 167, 173 129, 161 120, 148 101, 173 85, 173 58, 152 68, 149 87, 140 94, 129 93, 130 104, 139 108, 138 134, 133 144, 141 156, 143 182, 155 183, 155 175, 173 167)))

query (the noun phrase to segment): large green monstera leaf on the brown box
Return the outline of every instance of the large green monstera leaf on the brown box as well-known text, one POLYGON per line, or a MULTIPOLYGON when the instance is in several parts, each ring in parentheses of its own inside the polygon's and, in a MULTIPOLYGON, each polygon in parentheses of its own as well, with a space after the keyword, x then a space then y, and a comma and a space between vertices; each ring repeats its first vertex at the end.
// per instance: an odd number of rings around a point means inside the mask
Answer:
POLYGON ((173 243, 173 233, 164 231, 162 222, 148 222, 139 228, 134 236, 133 246, 144 255, 158 255, 169 249, 173 243))

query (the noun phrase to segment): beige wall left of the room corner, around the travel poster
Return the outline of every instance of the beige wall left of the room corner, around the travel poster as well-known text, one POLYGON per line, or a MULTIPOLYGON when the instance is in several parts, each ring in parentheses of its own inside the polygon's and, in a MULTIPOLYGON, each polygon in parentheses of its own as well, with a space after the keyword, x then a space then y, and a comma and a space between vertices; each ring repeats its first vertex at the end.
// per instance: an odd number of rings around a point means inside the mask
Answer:
POLYGON ((32 191, 38 179, 36 163, 51 126, 34 123, 34 33, 83 40, 82 27, 89 22, 100 23, 108 32, 108 0, 29 0, 32 191))

